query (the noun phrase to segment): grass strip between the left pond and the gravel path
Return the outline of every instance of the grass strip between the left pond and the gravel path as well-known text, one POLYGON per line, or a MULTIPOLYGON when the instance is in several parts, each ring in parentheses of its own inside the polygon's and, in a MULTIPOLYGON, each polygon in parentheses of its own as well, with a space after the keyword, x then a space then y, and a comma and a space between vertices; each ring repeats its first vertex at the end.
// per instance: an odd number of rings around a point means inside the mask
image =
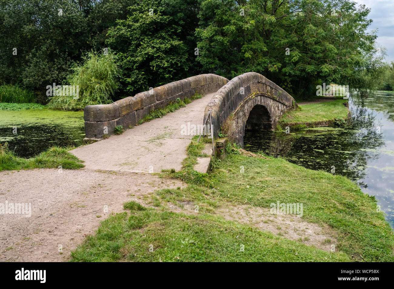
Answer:
POLYGON ((0 171, 35 169, 35 168, 83 168, 82 161, 69 153, 71 147, 50 147, 47 151, 32 158, 20 158, 7 149, 6 144, 0 145, 0 171))

